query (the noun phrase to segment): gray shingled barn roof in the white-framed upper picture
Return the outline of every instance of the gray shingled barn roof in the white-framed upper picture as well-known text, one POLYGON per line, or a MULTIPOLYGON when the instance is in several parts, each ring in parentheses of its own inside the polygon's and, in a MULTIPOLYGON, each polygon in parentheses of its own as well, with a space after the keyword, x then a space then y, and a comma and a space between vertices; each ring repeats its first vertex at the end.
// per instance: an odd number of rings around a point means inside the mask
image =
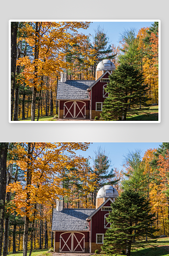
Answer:
POLYGON ((57 99, 90 99, 87 89, 94 82, 94 80, 67 80, 66 82, 59 80, 57 99))

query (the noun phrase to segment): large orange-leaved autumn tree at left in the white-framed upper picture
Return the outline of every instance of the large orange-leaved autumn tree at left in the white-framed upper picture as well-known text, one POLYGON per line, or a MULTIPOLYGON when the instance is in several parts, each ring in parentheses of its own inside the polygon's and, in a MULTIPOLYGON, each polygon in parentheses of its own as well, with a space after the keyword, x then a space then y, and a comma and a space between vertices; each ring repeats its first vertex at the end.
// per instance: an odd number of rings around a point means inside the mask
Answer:
MULTIPOLYGON (((42 90, 42 75, 57 76, 67 69, 66 47, 68 44, 82 44, 86 36, 78 34, 78 28, 87 29, 88 22, 31 22, 22 28, 24 40, 33 49, 33 56, 20 58, 17 63, 24 67, 20 83, 33 88, 31 120, 35 120, 36 96, 42 90), (69 31, 69 32, 68 32, 69 31)), ((43 90, 46 88, 43 87, 43 90)))

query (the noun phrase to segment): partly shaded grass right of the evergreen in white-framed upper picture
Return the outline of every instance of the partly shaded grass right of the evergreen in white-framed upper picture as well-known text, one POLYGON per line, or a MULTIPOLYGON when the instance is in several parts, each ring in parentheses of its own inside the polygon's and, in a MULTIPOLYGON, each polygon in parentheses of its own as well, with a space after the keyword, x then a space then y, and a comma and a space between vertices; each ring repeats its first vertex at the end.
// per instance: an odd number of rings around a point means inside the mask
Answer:
POLYGON ((135 111, 138 111, 138 114, 128 114, 126 121, 158 121, 158 105, 135 111))

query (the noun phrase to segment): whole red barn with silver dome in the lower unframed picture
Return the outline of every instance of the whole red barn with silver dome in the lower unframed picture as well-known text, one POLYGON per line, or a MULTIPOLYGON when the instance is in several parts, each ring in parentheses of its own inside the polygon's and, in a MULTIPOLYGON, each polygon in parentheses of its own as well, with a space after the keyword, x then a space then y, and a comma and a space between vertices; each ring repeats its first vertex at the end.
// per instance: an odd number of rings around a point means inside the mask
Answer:
POLYGON ((96 209, 63 208, 63 200, 58 200, 52 220, 54 251, 100 252, 104 233, 110 227, 106 217, 117 196, 115 188, 105 185, 97 193, 96 209))

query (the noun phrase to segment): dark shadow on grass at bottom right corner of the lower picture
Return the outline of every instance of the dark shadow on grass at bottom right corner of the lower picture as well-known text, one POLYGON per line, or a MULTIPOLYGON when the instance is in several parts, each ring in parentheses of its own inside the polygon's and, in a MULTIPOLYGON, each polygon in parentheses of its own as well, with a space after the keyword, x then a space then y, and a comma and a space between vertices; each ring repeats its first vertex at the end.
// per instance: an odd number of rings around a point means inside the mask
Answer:
POLYGON ((132 251, 131 256, 165 256, 169 253, 169 246, 158 246, 146 248, 138 251, 132 251))

